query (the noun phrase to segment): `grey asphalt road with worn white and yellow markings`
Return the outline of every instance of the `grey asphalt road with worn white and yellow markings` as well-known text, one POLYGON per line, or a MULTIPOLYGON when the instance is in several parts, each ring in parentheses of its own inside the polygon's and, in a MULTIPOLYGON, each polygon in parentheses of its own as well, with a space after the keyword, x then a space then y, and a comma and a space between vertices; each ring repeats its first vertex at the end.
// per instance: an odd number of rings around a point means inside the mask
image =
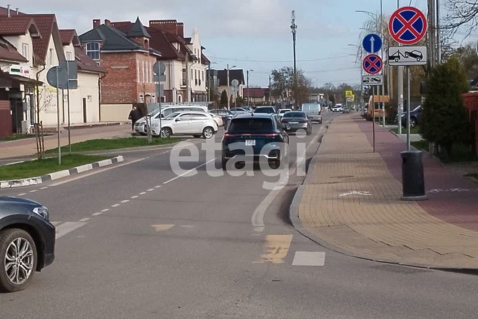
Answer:
MULTIPOLYGON (((324 113, 324 122, 334 116, 347 115, 324 113)), ((197 173, 178 177, 165 149, 1 190, 48 206, 59 238, 55 262, 27 290, 0 295, 0 318, 476 318, 473 275, 348 257, 290 226, 302 163, 324 132, 314 124, 312 136, 291 137, 290 176, 282 179, 265 176, 277 173, 270 169, 210 176, 208 165, 220 160, 205 164, 204 151, 181 164, 197 173), (316 266, 304 266, 310 262, 316 266)))

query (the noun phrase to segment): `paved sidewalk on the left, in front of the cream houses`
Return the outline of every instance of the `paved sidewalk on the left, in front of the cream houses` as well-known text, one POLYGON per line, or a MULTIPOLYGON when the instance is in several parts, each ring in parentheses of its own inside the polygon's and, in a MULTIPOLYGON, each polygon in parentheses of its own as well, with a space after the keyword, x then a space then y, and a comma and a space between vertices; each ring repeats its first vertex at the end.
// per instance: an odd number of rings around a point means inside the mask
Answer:
MULTIPOLYGON (((115 137, 130 137, 131 125, 110 125, 91 128, 76 128, 71 130, 71 143, 79 143, 94 139, 112 139, 115 137)), ((45 136, 45 150, 58 147, 58 136, 45 136)), ((60 144, 68 145, 68 130, 60 134, 60 144)), ((28 157, 36 155, 36 139, 23 139, 16 141, 0 142, 0 159, 28 157)))

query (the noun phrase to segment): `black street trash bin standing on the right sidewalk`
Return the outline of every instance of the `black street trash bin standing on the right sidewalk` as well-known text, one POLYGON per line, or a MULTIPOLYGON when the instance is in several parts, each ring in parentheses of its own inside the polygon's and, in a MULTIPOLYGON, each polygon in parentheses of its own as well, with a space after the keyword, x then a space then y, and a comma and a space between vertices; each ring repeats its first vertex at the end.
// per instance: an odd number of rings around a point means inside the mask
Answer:
POLYGON ((425 200, 425 178, 423 175, 423 153, 420 151, 402 152, 402 200, 425 200))

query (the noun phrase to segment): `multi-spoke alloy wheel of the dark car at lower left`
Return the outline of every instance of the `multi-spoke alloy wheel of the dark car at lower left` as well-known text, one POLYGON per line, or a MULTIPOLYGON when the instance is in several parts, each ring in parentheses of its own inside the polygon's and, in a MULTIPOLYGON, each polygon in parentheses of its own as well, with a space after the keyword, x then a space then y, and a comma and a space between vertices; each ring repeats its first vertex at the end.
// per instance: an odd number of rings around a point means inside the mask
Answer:
POLYGON ((37 251, 30 234, 22 229, 0 232, 0 290, 25 289, 36 270, 37 251))

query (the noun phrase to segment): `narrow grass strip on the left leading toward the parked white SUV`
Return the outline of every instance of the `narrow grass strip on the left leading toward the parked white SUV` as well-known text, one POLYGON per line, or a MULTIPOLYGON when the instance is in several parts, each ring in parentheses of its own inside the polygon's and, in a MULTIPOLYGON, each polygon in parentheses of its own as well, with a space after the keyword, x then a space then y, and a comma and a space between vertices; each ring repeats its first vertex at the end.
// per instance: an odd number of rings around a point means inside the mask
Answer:
MULTIPOLYGON (((169 138, 153 138, 151 144, 148 143, 146 138, 120 138, 120 139, 100 139, 89 140, 85 142, 75 143, 71 145, 71 151, 76 152, 88 152, 88 151, 105 151, 105 150, 117 150, 126 148, 135 148, 141 146, 160 146, 179 142, 179 139, 169 138)), ((52 154, 57 153, 58 149, 47 150, 45 153, 52 154)), ((62 153, 68 153, 68 146, 61 148, 62 153)))

